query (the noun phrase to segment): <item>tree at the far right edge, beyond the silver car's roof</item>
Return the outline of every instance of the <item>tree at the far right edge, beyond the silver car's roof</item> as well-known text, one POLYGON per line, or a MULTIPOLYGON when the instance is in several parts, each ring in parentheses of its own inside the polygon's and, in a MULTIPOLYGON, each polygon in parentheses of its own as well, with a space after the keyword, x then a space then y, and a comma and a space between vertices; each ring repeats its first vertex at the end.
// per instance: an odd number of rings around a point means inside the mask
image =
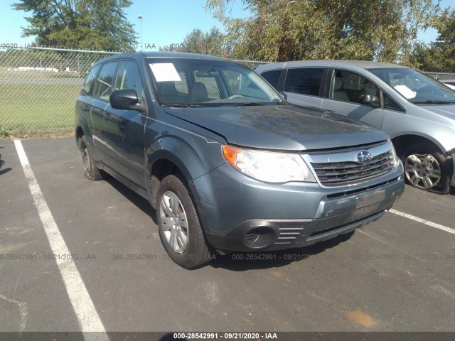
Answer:
POLYGON ((411 61, 420 70, 455 72, 455 9, 444 9, 432 24, 436 41, 414 45, 411 61))

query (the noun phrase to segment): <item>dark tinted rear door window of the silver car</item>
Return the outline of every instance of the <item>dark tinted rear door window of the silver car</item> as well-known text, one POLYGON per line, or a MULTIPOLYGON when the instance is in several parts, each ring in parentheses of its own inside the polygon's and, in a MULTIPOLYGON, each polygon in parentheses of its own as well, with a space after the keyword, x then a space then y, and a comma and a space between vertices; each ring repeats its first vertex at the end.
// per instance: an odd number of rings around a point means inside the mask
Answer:
POLYGON ((287 71, 284 91, 319 96, 323 68, 303 67, 287 71))

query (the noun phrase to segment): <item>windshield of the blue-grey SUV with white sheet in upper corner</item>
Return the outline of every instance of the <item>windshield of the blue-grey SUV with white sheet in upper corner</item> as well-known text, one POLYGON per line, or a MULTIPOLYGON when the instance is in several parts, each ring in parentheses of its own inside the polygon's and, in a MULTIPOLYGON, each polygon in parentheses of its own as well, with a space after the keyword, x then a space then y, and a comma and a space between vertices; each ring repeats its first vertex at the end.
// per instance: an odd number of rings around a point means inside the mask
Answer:
POLYGON ((284 104, 253 70, 225 60, 149 58, 156 96, 166 107, 284 104))

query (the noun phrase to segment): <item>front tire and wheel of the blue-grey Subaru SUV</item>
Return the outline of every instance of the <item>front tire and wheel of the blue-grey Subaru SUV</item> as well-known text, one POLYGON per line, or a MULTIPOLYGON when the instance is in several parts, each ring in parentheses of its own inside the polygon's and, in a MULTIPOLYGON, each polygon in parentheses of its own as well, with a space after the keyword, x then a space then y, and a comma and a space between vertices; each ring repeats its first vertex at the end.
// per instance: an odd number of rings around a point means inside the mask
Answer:
POLYGON ((164 178, 156 196, 159 237, 176 264, 193 269, 211 260, 196 207, 185 182, 176 175, 164 178))

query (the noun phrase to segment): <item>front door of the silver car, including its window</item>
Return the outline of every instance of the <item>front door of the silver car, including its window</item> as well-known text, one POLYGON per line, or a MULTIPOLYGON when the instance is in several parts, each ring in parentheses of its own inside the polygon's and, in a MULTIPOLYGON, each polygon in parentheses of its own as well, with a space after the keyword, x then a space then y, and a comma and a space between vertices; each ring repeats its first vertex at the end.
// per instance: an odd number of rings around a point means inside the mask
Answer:
POLYGON ((333 69, 327 80, 330 81, 330 89, 326 98, 322 99, 321 109, 381 129, 385 112, 381 107, 380 87, 348 70, 333 69))

